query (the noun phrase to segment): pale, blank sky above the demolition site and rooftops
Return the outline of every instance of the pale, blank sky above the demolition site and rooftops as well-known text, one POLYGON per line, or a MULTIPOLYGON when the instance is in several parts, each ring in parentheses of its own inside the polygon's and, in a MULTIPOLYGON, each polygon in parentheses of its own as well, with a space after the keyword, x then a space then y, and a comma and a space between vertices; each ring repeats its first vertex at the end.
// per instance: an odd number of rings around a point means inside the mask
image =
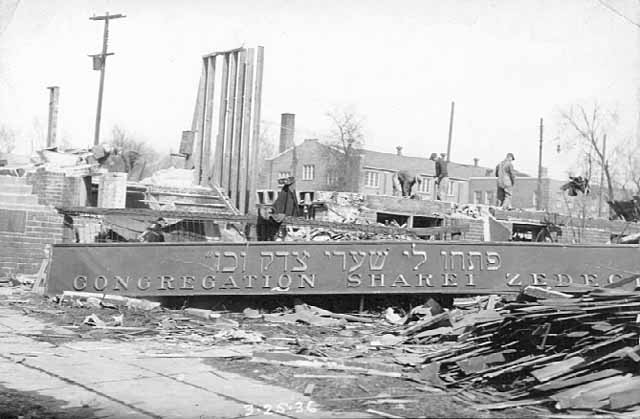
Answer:
MULTIPOLYGON (((604 1, 604 0, 603 0, 604 1)), ((189 129, 200 57, 265 47, 263 127, 296 114, 296 138, 322 137, 325 113, 352 106, 368 148, 428 156, 446 151, 456 102, 452 160, 492 166, 506 152, 537 171, 564 175, 557 112, 594 100, 635 135, 638 27, 598 0, 0 0, 0 124, 20 151, 46 132, 47 86, 60 86, 59 135, 92 143, 102 23, 110 25, 102 132, 119 124, 157 148, 177 149, 189 129), (13 11, 13 13, 11 13, 13 11)), ((634 21, 637 0, 606 0, 634 21)))

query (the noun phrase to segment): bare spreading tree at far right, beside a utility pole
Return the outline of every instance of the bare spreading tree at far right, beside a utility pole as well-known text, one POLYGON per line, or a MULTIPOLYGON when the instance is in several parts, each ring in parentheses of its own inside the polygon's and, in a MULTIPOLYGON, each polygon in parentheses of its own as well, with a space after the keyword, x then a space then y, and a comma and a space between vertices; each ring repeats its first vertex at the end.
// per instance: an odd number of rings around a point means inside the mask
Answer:
POLYGON ((607 182, 607 200, 613 200, 614 176, 609 166, 611 153, 605 155, 604 143, 607 141, 607 133, 613 131, 617 123, 617 116, 606 112, 597 103, 589 108, 573 105, 561 111, 560 116, 562 125, 572 134, 573 143, 570 145, 578 148, 580 158, 589 168, 592 164, 598 167, 607 182))

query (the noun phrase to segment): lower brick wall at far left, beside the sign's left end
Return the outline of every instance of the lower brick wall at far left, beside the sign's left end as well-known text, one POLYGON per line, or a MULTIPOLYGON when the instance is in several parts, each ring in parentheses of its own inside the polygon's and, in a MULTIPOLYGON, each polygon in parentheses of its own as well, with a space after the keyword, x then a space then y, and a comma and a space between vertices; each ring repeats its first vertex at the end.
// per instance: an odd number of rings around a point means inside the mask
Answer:
POLYGON ((55 210, 0 208, 0 276, 38 272, 48 244, 62 241, 62 216, 55 210))

